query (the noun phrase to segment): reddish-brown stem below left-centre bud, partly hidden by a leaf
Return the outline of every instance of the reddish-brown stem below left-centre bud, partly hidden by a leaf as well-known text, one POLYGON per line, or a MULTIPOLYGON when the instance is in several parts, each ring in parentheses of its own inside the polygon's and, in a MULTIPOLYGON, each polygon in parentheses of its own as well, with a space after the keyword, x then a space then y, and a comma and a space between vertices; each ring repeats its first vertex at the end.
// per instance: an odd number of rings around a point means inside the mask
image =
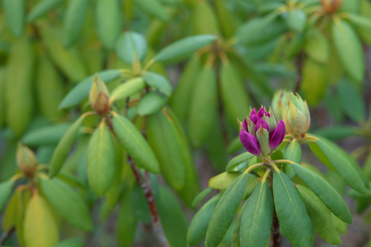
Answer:
MULTIPOLYGON (((117 135, 116 135, 115 130, 113 129, 111 119, 108 116, 106 116, 106 123, 107 123, 108 128, 112 132, 112 134, 117 139, 117 135)), ((165 237, 165 233, 162 228, 161 220, 157 212, 157 207, 156 207, 155 200, 153 197, 153 192, 152 192, 148 173, 146 172, 147 176, 143 180, 140 175, 139 169, 135 165, 135 162, 133 161, 133 159, 129 155, 127 157, 128 157, 128 163, 133 170, 137 183, 145 195, 145 198, 146 198, 146 201, 149 207, 149 211, 151 213, 153 232, 156 235, 157 240, 161 244, 162 247, 170 247, 169 242, 167 238, 165 237)))

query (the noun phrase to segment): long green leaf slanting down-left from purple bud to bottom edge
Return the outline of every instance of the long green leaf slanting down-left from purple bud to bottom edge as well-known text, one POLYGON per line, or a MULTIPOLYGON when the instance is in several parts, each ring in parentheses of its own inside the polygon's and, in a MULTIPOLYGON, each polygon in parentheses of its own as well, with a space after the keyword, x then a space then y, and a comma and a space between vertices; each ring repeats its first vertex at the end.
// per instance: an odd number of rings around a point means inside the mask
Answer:
POLYGON ((207 227, 206 247, 216 247, 223 240, 241 203, 246 184, 247 174, 242 173, 223 193, 207 227))

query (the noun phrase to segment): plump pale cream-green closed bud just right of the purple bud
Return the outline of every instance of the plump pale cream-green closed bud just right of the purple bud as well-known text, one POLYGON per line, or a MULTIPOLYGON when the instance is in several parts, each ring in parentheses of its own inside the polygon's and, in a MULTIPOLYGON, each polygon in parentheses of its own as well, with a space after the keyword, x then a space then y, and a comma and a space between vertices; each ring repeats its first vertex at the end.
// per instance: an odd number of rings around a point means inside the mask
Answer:
POLYGON ((299 94, 288 93, 288 104, 282 109, 282 118, 287 132, 295 136, 304 136, 311 124, 308 104, 299 94))

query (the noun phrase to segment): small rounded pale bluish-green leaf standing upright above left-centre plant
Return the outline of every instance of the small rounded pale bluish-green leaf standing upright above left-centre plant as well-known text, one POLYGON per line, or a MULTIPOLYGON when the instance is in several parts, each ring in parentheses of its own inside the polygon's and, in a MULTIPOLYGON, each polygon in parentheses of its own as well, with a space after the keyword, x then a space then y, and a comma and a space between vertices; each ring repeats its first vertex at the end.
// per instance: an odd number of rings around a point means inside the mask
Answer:
POLYGON ((117 56, 128 64, 141 61, 147 54, 148 44, 142 34, 127 31, 120 35, 116 42, 117 56))

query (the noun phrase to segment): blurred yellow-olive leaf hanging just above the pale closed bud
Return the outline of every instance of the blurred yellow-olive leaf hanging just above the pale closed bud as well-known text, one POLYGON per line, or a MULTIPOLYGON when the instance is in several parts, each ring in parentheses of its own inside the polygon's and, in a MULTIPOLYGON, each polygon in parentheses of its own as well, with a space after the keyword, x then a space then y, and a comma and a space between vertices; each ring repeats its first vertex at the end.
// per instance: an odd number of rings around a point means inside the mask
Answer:
POLYGON ((325 96, 328 85, 328 70, 323 65, 310 58, 303 65, 301 90, 309 105, 317 105, 325 96))

